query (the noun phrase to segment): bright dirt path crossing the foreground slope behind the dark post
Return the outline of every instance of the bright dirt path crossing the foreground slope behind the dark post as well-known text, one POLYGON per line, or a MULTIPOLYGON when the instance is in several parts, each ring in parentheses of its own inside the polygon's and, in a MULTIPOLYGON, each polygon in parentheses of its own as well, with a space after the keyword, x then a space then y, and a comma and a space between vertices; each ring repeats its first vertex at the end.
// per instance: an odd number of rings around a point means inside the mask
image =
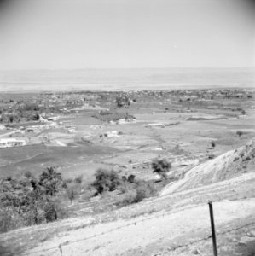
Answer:
MULTIPOLYGON (((255 199, 221 201, 214 204, 217 227, 245 219, 255 212, 255 199)), ((206 204, 180 208, 177 212, 157 212, 148 216, 97 224, 67 232, 26 252, 25 255, 131 255, 159 241, 171 241, 192 232, 210 234, 206 204)), ((155 248, 154 248, 155 249, 155 248)))

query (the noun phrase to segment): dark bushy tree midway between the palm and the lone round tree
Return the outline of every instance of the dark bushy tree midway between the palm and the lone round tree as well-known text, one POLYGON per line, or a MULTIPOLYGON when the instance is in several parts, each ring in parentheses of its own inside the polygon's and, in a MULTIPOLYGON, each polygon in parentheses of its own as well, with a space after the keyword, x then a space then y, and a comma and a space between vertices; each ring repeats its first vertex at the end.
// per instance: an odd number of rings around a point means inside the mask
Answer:
POLYGON ((113 191, 121 184, 121 178, 118 173, 113 170, 108 171, 100 168, 96 171, 95 176, 96 181, 92 183, 92 185, 99 194, 105 191, 113 191))

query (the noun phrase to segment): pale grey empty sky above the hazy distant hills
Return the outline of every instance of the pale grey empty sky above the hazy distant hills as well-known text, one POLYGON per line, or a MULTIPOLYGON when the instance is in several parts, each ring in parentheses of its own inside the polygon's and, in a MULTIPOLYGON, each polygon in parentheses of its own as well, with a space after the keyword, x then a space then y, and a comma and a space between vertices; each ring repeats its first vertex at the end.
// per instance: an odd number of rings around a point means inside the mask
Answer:
POLYGON ((255 67, 248 0, 9 0, 0 69, 255 67))

